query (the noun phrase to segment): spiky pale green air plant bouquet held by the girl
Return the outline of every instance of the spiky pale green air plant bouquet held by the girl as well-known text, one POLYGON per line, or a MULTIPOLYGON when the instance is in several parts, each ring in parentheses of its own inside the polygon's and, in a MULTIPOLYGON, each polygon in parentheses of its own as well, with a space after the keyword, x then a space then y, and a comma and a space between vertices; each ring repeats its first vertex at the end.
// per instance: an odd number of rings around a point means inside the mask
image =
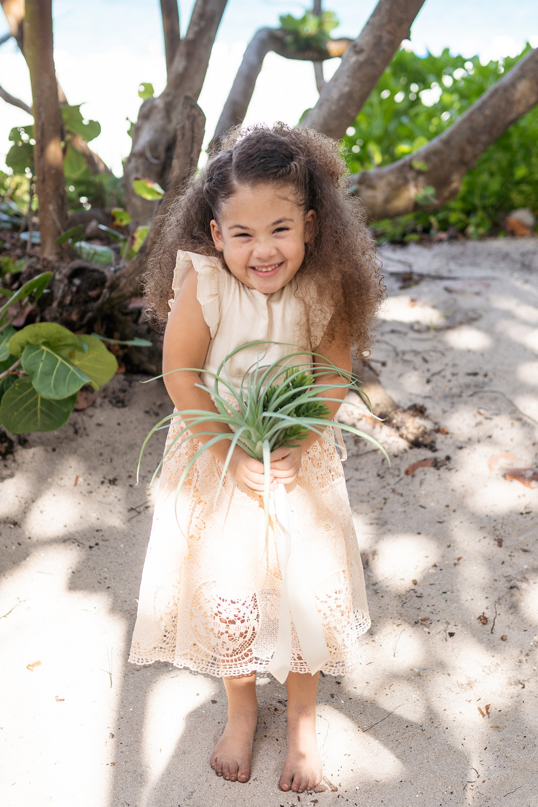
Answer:
MULTIPOLYGON (((215 492, 215 504, 223 486, 231 455, 236 446, 239 445, 249 456, 263 462, 265 479, 265 522, 266 526, 268 526, 271 451, 281 445, 298 445, 297 441, 304 440, 311 431, 318 434, 319 437, 323 437, 324 440, 329 441, 332 445, 336 445, 334 437, 327 434, 327 427, 330 426, 333 421, 331 420, 331 412, 325 405, 325 402, 334 401, 334 399, 324 395, 324 393, 332 389, 348 389, 358 392, 361 399, 367 404, 371 411, 369 399, 365 393, 361 391, 361 387, 358 386, 357 382, 352 378, 352 375, 348 373, 347 370, 342 370, 332 362, 329 362, 327 358, 324 358, 319 353, 306 351, 287 353, 276 362, 272 362, 268 365, 261 365, 258 358, 258 361, 248 368, 241 380, 240 387, 237 388, 231 382, 231 378, 227 373, 227 362, 240 350, 256 345, 266 348, 267 345, 271 344, 282 345, 283 343, 255 341, 248 342, 247 345, 241 345, 241 347, 236 348, 236 350, 228 353, 227 356, 223 358, 216 373, 192 367, 170 370, 171 373, 190 370, 196 373, 211 375, 214 379, 212 387, 206 386, 206 384, 202 382, 197 383, 195 386, 211 395, 217 412, 206 412, 206 410, 203 409, 185 409, 181 412, 173 412, 167 415, 152 428, 140 449, 138 470, 140 470, 140 461, 145 446, 156 431, 165 429, 167 422, 175 417, 180 418, 185 424, 165 450, 165 454, 152 476, 150 487, 161 469, 162 463, 165 462, 165 459, 177 447, 177 444, 183 445, 183 443, 194 439, 194 437, 210 437, 210 439, 194 453, 193 457, 190 458, 183 469, 177 485, 177 493, 179 493, 186 480, 186 476, 198 457, 200 457, 204 451, 211 449, 211 446, 215 445, 217 442, 227 440, 230 441, 230 447, 223 465, 219 486, 215 492), (319 361, 316 361, 315 365, 311 366, 313 359, 319 361), (299 364, 301 360, 302 366, 299 364), (294 365, 298 366, 290 366, 292 362, 294 365), (307 365, 307 369, 305 369, 305 365, 307 365), (341 383, 316 383, 318 378, 327 374, 339 375, 341 383), (224 394, 230 396, 233 403, 229 403, 223 398, 223 390, 226 391, 224 394), (231 429, 231 433, 223 433, 210 428, 196 434, 190 432, 190 429, 194 426, 211 423, 224 424, 231 429)), ((161 377, 162 376, 158 376, 158 378, 161 377)), ((377 445, 377 448, 381 449, 382 453, 385 454, 387 460, 389 460, 386 450, 377 440, 370 437, 369 434, 348 424, 338 424, 338 428, 373 442, 373 444, 377 445)))

